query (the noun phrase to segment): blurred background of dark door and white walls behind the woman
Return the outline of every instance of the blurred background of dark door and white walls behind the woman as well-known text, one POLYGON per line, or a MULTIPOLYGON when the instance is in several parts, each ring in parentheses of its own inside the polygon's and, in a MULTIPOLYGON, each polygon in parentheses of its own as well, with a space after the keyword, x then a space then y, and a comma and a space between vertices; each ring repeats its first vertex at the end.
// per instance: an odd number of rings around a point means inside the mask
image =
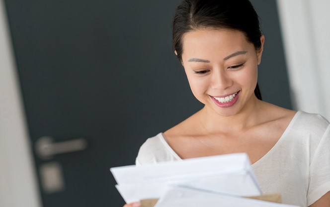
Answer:
MULTIPOLYGON (((251 0, 264 101, 330 118, 327 0, 251 0)), ((179 0, 0 0, 0 207, 120 207, 111 167, 202 107, 171 47, 179 0)))

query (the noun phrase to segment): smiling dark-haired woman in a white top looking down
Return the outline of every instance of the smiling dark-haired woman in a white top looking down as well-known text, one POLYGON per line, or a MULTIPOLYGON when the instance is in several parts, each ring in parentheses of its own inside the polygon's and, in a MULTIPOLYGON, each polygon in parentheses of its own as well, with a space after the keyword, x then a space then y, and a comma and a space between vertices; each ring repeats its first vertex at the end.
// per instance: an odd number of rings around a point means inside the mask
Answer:
MULTIPOLYGON (((261 101, 264 36, 248 0, 183 0, 173 19, 175 54, 205 106, 149 138, 137 165, 246 152, 264 194, 330 207, 330 125, 320 115, 261 101)), ((125 207, 138 207, 138 203, 125 207)))

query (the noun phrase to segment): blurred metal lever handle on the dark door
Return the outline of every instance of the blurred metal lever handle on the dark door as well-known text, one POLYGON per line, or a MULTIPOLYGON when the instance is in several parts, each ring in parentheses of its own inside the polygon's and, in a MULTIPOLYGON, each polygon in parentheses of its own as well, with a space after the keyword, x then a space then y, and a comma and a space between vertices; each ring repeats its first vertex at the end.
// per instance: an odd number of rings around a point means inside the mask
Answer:
POLYGON ((40 137, 35 143, 35 149, 38 156, 43 160, 53 158, 54 155, 68 152, 81 151, 87 148, 87 141, 83 138, 54 142, 49 136, 40 137))

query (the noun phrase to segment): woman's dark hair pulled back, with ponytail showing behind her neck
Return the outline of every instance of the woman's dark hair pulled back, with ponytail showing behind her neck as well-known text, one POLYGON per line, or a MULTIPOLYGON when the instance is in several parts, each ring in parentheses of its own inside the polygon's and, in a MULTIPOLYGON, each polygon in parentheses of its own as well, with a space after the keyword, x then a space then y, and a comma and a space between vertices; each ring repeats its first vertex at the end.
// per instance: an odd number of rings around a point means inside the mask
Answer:
MULTIPOLYGON (((174 13, 172 25, 173 47, 180 61, 183 35, 199 28, 239 30, 256 50, 261 47, 259 16, 249 0, 182 0, 174 13)), ((258 84, 254 94, 261 100, 258 84)))

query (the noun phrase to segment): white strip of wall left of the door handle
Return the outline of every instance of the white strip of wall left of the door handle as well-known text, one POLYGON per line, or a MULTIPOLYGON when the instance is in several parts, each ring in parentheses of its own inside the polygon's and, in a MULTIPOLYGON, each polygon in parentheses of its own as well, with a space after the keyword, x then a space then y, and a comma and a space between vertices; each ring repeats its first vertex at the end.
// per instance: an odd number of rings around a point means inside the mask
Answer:
POLYGON ((40 207, 28 133, 0 0, 0 207, 40 207))

